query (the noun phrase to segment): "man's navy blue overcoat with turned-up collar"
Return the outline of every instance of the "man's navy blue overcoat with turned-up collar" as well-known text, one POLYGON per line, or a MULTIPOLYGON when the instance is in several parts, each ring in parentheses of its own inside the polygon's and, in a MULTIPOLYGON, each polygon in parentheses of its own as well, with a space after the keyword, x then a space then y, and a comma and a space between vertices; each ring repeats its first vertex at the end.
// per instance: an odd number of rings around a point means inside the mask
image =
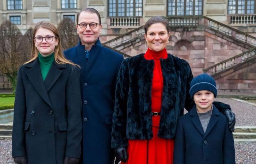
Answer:
POLYGON ((65 56, 80 65, 83 100, 83 164, 110 164, 110 147, 114 91, 123 56, 103 47, 99 41, 90 50, 88 60, 80 39, 65 56))

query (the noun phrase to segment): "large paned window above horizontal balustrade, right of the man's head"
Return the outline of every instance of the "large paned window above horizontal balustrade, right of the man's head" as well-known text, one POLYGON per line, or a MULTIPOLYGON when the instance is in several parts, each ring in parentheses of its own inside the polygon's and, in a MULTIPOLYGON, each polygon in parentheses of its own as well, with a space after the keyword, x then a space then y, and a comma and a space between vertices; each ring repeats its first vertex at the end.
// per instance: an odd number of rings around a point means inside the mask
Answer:
POLYGON ((142 16, 142 0, 108 0, 110 17, 142 16))

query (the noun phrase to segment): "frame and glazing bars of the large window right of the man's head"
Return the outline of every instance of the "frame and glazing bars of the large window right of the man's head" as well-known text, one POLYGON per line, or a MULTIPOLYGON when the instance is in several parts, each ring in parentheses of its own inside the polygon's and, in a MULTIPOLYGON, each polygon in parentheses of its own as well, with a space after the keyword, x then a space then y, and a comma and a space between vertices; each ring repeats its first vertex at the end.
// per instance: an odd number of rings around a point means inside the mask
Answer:
MULTIPOLYGON (((127 4, 130 4, 130 3, 127 3, 127 0, 124 0, 124 16, 118 16, 118 0, 113 0, 113 1, 116 1, 115 5, 116 5, 116 16, 109 16, 109 0, 108 0, 108 17, 143 17, 143 0, 142 0, 142 6, 141 6, 141 16, 136 16, 136 0, 133 0, 133 15, 131 16, 127 16, 127 4)), ((112 3, 113 4, 113 3, 112 3)), ((122 3, 121 3, 122 4, 122 3)), ((138 7, 140 8, 140 7, 138 7)), ((130 11, 129 11, 130 13, 130 11)))

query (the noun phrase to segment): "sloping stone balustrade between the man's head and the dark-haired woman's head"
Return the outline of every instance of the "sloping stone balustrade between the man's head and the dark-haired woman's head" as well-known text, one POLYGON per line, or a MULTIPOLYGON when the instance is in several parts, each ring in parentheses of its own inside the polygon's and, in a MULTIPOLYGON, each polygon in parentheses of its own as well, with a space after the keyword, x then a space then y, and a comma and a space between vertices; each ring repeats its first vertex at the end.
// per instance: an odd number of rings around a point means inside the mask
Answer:
POLYGON ((124 35, 118 36, 112 40, 109 40, 108 42, 103 43, 106 46, 109 46, 111 48, 117 49, 118 47, 131 42, 131 40, 136 40, 136 38, 138 38, 139 36, 144 34, 144 30, 143 30, 143 26, 136 28, 130 32, 127 32, 124 35))

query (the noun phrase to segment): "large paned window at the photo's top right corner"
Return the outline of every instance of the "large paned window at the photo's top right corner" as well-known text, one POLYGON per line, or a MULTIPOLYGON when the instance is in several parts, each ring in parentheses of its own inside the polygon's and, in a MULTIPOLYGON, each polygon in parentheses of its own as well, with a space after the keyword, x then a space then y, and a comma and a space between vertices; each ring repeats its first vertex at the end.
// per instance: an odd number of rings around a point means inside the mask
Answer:
POLYGON ((229 14, 253 14, 255 13, 255 0, 229 0, 229 14))

